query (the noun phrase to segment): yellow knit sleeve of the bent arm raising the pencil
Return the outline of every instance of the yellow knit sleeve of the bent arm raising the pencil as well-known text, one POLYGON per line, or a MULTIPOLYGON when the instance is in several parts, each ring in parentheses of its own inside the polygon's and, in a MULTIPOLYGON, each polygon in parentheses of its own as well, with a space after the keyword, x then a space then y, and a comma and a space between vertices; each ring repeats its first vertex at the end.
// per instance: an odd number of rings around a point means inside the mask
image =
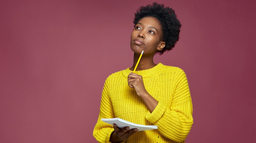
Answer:
POLYGON ((155 110, 152 113, 148 111, 145 118, 157 125, 158 131, 165 137, 182 142, 193 124, 193 108, 186 74, 183 70, 176 75, 176 81, 171 106, 167 107, 166 103, 159 101, 155 110))

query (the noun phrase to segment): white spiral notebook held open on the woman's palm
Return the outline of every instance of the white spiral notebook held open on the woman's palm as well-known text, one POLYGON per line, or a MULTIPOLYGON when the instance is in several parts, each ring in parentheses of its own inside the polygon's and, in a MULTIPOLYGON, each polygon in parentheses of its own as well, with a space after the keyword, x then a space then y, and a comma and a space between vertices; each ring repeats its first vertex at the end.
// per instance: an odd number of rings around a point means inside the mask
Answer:
POLYGON ((135 124, 135 123, 132 123, 132 122, 120 119, 120 118, 110 118, 110 119, 102 118, 101 120, 103 122, 106 122, 111 125, 113 125, 115 123, 115 124, 117 124, 117 127, 119 127, 119 128, 129 126, 130 129, 137 128, 139 131, 157 129, 157 126, 155 126, 155 125, 140 125, 140 124, 135 124))

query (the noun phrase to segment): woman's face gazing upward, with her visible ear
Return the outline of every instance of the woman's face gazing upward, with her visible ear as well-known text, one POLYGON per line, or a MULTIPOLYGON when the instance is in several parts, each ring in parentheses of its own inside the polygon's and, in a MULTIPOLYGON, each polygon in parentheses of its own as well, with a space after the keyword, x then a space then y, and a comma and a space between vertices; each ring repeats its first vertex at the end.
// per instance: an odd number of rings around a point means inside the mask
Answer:
POLYGON ((154 55, 165 46, 161 38, 160 22, 154 17, 144 17, 135 25, 131 34, 131 49, 137 54, 143 50, 143 55, 154 55))

